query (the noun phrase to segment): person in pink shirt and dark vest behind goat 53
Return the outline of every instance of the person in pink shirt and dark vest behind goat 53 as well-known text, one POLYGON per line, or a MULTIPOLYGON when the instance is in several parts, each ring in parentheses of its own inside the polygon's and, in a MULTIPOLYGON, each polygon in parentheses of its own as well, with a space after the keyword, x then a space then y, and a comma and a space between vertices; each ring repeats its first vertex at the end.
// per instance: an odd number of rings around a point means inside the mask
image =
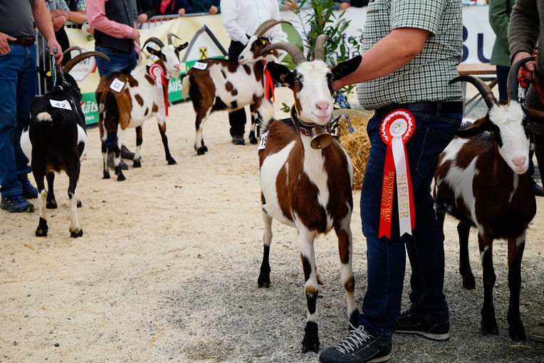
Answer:
MULTIPOLYGON (((96 66, 100 77, 114 72, 130 74, 136 67, 137 53, 135 42, 140 41, 140 32, 136 28, 137 7, 135 0, 86 0, 89 25, 94 28, 95 51, 110 58, 96 57, 96 66)), ((113 168, 113 150, 117 132, 110 132, 108 147, 108 167, 113 168)), ((133 154, 125 147, 122 157, 131 159, 133 154), (132 156, 131 156, 132 154, 132 156)), ((128 169, 122 162, 121 168, 128 169)))

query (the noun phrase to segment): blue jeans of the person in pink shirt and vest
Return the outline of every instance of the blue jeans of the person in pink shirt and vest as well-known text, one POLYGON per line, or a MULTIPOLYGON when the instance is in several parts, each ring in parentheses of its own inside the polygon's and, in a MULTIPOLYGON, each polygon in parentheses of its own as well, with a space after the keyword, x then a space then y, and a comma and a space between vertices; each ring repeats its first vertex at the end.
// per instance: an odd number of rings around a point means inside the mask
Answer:
MULTIPOLYGON (((136 61, 138 58, 136 51, 126 53, 105 46, 95 46, 95 51, 104 53, 106 56, 110 57, 109 62, 107 59, 95 57, 96 67, 98 68, 98 74, 100 77, 114 72, 130 74, 130 72, 132 72, 132 70, 136 67, 136 61)), ((109 132, 106 140, 108 152, 113 152, 115 149, 115 139, 117 139, 117 132, 109 132)))

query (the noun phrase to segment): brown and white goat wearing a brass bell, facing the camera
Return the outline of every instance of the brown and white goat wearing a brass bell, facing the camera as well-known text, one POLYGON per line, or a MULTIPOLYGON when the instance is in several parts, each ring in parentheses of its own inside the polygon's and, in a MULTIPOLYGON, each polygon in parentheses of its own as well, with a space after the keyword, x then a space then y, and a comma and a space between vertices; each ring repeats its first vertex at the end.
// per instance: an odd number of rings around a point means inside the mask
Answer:
MULTIPOLYGON (((347 61, 342 63, 342 67, 337 65, 328 68, 323 61, 323 41, 326 38, 318 38, 315 60, 311 62, 307 62, 303 53, 289 43, 274 43, 263 50, 263 53, 275 48, 286 50, 293 57, 296 68, 289 71, 283 65, 268 63, 272 77, 293 90, 295 105, 291 110, 291 119, 275 120, 263 125, 267 131, 261 138, 258 154, 265 231, 258 287, 270 286, 268 257, 272 219, 297 228, 298 249, 305 279, 304 293, 308 304, 302 352, 319 350, 315 305, 319 293, 318 281, 322 281, 315 268, 313 243, 320 233, 328 233, 333 228, 338 236, 347 317, 354 327, 358 326, 359 317, 354 298, 350 229, 353 208, 352 164, 340 143, 323 132, 323 127, 333 115, 333 77, 341 78, 351 73, 358 63, 347 61), (343 70, 343 74, 339 70, 343 70), (320 134, 324 135, 323 139, 320 139, 320 134), (266 146, 262 147, 265 138, 266 146)), ((356 61, 360 62, 360 57, 356 61)))

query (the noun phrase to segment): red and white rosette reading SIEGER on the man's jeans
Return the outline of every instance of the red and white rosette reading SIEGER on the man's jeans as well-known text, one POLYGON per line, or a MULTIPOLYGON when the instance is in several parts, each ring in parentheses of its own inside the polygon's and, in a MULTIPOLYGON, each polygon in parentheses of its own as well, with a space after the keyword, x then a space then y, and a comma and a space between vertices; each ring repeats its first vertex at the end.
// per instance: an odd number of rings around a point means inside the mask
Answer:
POLYGON ((378 238, 391 238, 394 182, 397 181, 397 204, 399 206, 399 231, 412 234, 415 223, 412 179, 405 142, 412 136, 415 128, 414 115, 408 110, 394 110, 382 122, 380 135, 387 144, 385 153, 384 177, 382 185, 382 204, 380 209, 380 233, 378 238))

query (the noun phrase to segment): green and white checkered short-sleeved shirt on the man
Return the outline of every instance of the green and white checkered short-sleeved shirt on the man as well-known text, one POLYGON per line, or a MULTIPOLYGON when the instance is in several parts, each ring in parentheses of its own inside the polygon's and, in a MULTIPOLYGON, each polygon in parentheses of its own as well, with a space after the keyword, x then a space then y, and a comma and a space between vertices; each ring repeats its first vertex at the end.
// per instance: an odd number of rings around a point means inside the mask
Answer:
POLYGON ((430 32, 423 50, 399 70, 357 85, 357 99, 367 110, 393 102, 461 101, 459 75, 463 17, 461 0, 370 0, 363 33, 365 52, 394 28, 430 32))

